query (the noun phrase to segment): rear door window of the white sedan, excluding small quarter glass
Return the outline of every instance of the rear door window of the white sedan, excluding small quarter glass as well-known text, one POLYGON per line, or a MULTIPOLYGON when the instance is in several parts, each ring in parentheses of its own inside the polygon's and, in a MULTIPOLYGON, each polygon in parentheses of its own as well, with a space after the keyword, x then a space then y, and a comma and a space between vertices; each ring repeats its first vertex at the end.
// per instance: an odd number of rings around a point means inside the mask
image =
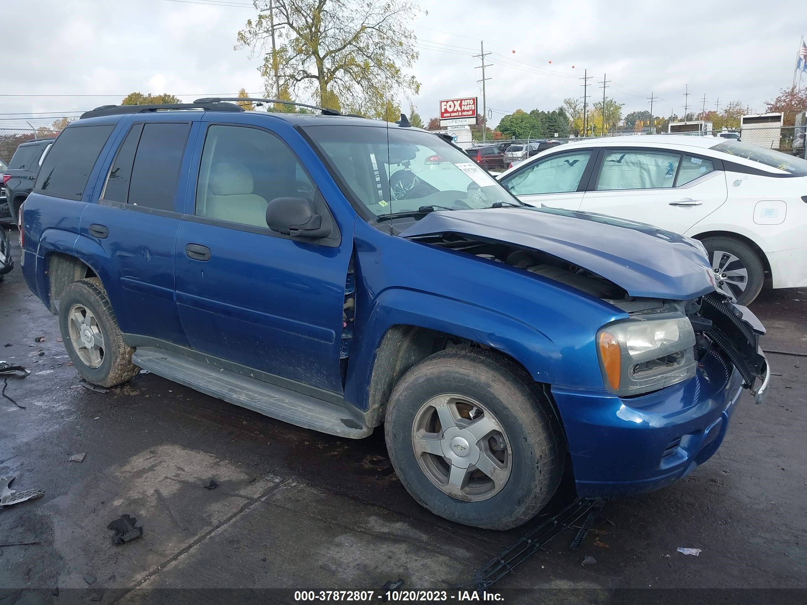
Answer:
POLYGON ((605 153, 597 190, 671 187, 681 156, 677 153, 622 151, 605 153))

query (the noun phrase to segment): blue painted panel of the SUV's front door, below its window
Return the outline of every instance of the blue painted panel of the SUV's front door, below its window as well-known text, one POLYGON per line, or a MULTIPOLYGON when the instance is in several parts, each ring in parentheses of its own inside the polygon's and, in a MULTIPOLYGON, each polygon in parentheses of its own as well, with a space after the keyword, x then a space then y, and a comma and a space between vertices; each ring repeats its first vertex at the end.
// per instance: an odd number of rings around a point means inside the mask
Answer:
POLYGON ((341 393, 339 351, 350 237, 341 248, 185 220, 177 304, 190 346, 341 393), (211 250, 186 256, 186 244, 211 250))

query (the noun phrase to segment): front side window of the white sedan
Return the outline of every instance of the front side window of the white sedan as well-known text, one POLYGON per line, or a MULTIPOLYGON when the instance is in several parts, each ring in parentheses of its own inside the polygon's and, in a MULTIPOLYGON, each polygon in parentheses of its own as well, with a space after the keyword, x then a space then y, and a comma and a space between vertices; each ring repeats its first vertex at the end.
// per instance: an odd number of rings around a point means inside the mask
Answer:
POLYGON ((513 195, 576 191, 591 156, 591 151, 582 151, 547 157, 505 179, 504 186, 513 195))

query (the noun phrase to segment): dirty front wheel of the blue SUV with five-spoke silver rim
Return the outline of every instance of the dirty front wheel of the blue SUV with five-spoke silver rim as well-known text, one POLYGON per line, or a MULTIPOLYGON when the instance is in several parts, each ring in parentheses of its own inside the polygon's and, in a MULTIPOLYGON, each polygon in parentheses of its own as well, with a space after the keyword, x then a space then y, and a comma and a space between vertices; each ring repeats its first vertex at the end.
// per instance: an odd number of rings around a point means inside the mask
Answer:
POLYGON ((387 404, 392 465, 422 506, 457 523, 509 529, 546 505, 565 454, 550 403, 496 353, 434 353, 403 375, 387 404))

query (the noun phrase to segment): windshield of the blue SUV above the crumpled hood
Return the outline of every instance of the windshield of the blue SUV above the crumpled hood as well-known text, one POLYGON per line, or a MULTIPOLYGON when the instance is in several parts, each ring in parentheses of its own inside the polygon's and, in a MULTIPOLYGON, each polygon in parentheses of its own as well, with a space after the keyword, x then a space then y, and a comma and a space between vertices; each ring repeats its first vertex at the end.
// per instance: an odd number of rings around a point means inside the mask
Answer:
POLYGON ((375 216, 516 205, 490 174, 440 137, 366 126, 305 128, 353 198, 375 216))

